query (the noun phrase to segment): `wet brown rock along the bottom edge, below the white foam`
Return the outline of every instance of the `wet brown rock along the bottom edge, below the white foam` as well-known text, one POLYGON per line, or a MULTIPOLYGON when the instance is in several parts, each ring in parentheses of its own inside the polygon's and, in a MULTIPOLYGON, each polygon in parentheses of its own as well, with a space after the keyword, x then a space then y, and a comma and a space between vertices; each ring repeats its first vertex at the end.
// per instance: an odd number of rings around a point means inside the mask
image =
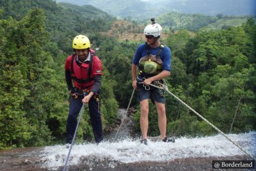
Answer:
MULTIPOLYGON (((46 159, 43 159, 43 148, 23 148, 0 152, 0 170, 62 170, 63 167, 43 167, 46 159)), ((61 159, 56 156, 56 159, 61 159)), ((181 158, 166 162, 143 161, 134 163, 120 163, 113 158, 101 158, 97 155, 82 156, 79 164, 68 166, 68 170, 212 170, 212 161, 216 159, 238 160, 250 159, 247 156, 222 156, 204 158, 181 158)), ((64 162, 63 162, 64 163, 64 162)))

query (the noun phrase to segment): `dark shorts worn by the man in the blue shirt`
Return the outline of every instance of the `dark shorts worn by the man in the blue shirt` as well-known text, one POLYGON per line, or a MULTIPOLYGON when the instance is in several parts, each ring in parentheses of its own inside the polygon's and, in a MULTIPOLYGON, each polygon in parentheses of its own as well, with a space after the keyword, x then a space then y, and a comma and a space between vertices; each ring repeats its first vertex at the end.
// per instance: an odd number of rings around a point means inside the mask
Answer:
MULTIPOLYGON (((140 82, 140 81, 137 80, 137 82, 140 82)), ((151 99, 152 102, 160 102, 160 103, 165 104, 165 96, 162 96, 160 94, 160 92, 161 92, 160 89, 158 89, 156 87, 152 87, 150 85, 149 85, 149 87, 146 87, 146 89, 143 86, 143 84, 137 83, 137 96, 138 96, 139 101, 143 101, 144 99, 151 99)))

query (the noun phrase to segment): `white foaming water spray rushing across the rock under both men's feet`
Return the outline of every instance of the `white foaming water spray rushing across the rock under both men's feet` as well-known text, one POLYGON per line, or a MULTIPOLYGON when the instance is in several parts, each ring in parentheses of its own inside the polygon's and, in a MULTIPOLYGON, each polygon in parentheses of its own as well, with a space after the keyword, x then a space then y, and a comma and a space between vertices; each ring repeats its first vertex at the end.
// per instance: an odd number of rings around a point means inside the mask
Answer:
MULTIPOLYGON (((244 150, 256 156, 256 132, 243 134, 230 134, 230 139, 240 144, 244 150)), ((65 163, 68 149, 65 146, 45 147, 42 167, 58 169, 65 163)), ((176 143, 163 143, 149 141, 148 146, 139 140, 124 139, 118 143, 103 142, 96 144, 74 145, 69 158, 70 166, 93 163, 107 159, 109 167, 115 168, 118 163, 140 163, 145 161, 166 162, 179 158, 219 157, 244 155, 230 141, 222 135, 207 136, 204 138, 179 138, 176 143), (82 162, 86 163, 82 163, 82 162)))

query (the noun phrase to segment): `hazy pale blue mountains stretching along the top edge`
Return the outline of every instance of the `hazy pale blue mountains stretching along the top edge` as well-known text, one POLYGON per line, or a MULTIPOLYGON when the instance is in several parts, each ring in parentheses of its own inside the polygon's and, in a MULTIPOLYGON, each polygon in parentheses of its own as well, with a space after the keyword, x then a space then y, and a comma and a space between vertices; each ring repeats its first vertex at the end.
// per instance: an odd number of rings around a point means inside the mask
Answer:
POLYGON ((168 12, 204 15, 256 15, 255 0, 57 0, 77 5, 93 5, 113 16, 147 19, 168 12))

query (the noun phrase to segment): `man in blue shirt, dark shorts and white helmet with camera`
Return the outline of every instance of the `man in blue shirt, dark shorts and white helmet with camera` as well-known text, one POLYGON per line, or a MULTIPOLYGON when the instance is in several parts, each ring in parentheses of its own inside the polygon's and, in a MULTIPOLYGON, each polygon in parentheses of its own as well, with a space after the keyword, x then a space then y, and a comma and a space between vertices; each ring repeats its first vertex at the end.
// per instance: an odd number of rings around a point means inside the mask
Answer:
POLYGON ((137 89, 141 109, 141 143, 147 144, 149 99, 157 108, 158 127, 162 141, 174 143, 173 138, 166 137, 165 96, 160 93, 160 89, 149 85, 155 81, 161 82, 163 78, 171 75, 171 50, 160 42, 161 25, 155 23, 154 19, 151 21, 152 24, 147 25, 144 29, 146 43, 138 46, 132 60, 132 86, 137 89))

